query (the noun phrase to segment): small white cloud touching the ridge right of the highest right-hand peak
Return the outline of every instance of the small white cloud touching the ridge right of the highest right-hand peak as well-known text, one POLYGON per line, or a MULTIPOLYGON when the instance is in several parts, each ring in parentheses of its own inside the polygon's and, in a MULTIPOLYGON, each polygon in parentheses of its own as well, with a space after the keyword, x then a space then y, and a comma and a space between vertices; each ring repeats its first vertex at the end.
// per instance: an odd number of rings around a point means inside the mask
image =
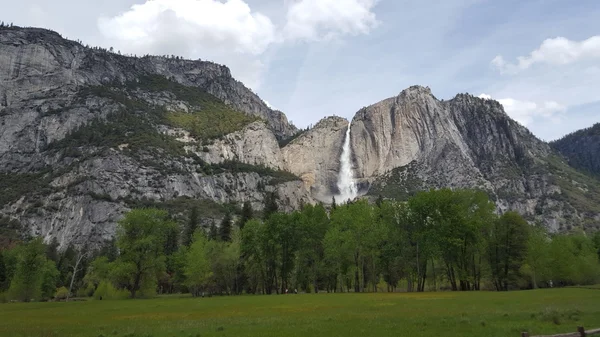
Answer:
MULTIPOLYGON (((481 94, 479 98, 492 99, 491 95, 481 94)), ((536 118, 545 118, 552 122, 559 122, 561 114, 565 112, 566 107, 555 101, 531 102, 517 100, 513 98, 498 99, 498 102, 504 107, 504 111, 514 120, 524 126, 528 126, 536 118)))

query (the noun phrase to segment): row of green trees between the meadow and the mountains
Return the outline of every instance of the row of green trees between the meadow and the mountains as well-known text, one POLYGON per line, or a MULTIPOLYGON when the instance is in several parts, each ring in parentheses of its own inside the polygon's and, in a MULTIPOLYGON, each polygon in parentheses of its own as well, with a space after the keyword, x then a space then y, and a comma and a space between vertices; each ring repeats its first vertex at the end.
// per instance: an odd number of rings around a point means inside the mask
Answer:
POLYGON ((358 200, 330 209, 236 217, 202 227, 134 209, 96 252, 34 239, 0 254, 5 299, 97 299, 301 292, 476 291, 600 282, 600 233, 550 234, 498 215, 481 191, 421 192, 407 202, 358 200))

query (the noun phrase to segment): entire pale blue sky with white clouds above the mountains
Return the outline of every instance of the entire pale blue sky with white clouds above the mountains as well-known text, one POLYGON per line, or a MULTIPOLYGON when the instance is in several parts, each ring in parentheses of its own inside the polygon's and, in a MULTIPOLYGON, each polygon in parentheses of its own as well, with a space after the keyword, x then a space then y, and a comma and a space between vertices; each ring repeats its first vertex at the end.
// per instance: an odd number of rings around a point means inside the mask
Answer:
POLYGON ((0 20, 214 61, 298 127, 411 85, 496 99, 544 140, 600 122, 599 0, 0 0, 0 20))

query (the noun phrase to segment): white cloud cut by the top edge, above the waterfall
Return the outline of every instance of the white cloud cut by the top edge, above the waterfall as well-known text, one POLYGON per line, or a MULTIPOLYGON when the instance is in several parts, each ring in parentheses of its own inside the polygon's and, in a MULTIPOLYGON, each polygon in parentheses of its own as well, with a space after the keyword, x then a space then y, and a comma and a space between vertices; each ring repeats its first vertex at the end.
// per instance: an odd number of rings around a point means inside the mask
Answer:
POLYGON ((376 0, 296 0, 287 11, 284 39, 328 40, 368 34, 378 21, 376 0))

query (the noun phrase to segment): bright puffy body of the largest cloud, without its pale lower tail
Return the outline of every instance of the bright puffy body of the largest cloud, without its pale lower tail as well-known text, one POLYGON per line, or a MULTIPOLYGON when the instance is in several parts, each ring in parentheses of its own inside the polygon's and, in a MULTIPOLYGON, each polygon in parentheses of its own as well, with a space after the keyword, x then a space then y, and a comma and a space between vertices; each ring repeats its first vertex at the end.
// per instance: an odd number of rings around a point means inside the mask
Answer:
POLYGON ((271 20, 242 0, 146 1, 114 18, 101 18, 99 27, 104 36, 140 49, 162 49, 185 38, 190 51, 216 48, 257 55, 275 40, 271 20))

